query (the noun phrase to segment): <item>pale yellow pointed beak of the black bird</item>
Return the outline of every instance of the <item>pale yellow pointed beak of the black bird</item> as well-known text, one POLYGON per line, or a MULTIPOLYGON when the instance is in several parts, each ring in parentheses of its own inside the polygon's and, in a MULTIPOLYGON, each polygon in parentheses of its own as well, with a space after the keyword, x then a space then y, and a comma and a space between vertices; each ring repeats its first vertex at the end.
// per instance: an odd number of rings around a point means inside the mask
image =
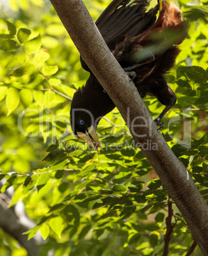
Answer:
POLYGON ((94 150, 96 150, 97 152, 99 152, 98 147, 100 147, 100 149, 103 150, 93 125, 88 128, 88 131, 86 131, 86 133, 77 132, 77 135, 79 136, 79 138, 83 139, 86 143, 88 143, 89 146, 94 148, 94 150))

